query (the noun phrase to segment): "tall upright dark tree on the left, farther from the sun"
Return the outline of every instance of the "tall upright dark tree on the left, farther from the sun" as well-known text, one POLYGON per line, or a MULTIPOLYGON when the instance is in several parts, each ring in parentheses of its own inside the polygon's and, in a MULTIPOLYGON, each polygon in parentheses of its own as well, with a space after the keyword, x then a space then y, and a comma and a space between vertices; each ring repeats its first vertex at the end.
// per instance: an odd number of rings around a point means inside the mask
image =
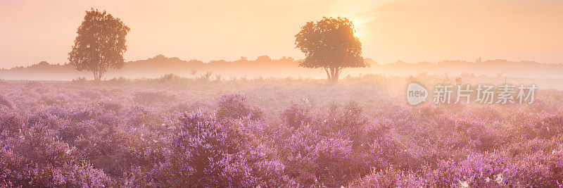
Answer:
POLYGON ((127 32, 129 27, 106 11, 100 12, 94 8, 86 11, 69 53, 70 64, 79 71, 91 71, 94 80, 101 80, 108 68, 123 67, 127 32))

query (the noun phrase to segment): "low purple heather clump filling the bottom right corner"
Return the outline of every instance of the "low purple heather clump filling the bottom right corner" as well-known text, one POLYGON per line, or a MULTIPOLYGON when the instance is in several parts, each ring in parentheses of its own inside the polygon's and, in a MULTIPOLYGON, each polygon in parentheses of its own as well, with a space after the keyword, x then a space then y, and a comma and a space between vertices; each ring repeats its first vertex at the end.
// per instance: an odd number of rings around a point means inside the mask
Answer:
POLYGON ((472 154, 455 163, 441 161, 434 171, 426 171, 427 184, 438 187, 559 187, 561 150, 550 154, 533 153, 524 158, 510 158, 505 153, 472 154))

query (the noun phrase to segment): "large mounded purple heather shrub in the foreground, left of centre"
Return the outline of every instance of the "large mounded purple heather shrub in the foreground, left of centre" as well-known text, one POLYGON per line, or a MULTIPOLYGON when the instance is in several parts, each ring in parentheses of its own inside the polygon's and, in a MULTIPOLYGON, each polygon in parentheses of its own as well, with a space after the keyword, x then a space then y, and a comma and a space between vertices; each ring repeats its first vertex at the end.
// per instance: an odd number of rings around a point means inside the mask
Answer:
POLYGON ((284 165, 255 145, 238 124, 201 112, 184 114, 171 135, 170 153, 148 175, 137 172, 128 184, 158 187, 272 187, 284 182, 284 165), (147 180, 148 178, 148 180, 147 180))

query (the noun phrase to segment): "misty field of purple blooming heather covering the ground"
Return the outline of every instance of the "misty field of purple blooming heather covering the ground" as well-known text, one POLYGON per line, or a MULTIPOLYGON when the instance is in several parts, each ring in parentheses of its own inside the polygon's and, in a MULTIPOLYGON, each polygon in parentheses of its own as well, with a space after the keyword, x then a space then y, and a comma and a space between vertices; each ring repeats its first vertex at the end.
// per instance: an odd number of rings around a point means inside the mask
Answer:
POLYGON ((410 106, 408 82, 0 81, 0 187, 561 187, 563 92, 410 106))

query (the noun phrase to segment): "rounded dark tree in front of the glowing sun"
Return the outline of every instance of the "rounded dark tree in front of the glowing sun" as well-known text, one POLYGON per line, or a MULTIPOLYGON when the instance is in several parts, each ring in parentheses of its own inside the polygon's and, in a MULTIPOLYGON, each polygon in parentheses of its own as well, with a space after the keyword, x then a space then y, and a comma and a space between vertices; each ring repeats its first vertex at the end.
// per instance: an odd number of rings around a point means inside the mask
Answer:
POLYGON ((305 53, 299 65, 324 68, 329 82, 337 82, 342 68, 365 67, 362 43, 354 36, 354 25, 347 18, 310 21, 295 35, 296 47, 305 53))

